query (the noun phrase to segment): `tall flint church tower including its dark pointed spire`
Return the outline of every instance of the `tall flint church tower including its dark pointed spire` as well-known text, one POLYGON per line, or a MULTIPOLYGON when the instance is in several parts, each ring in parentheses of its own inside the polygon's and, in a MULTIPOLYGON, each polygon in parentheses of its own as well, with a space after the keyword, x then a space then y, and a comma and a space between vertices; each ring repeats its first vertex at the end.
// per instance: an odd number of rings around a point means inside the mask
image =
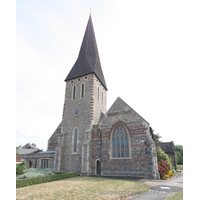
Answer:
POLYGON ((78 58, 67 75, 61 133, 56 146, 57 171, 89 174, 93 125, 107 112, 107 86, 101 68, 91 15, 78 58))

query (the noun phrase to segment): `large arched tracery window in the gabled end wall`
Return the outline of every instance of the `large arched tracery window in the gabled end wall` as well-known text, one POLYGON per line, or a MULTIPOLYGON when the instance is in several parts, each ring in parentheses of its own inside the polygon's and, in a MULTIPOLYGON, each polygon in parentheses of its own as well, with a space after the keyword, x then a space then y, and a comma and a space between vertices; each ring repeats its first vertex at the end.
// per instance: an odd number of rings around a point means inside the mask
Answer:
POLYGON ((129 157, 129 141, 128 132, 119 125, 115 128, 112 135, 112 157, 123 158, 129 157))

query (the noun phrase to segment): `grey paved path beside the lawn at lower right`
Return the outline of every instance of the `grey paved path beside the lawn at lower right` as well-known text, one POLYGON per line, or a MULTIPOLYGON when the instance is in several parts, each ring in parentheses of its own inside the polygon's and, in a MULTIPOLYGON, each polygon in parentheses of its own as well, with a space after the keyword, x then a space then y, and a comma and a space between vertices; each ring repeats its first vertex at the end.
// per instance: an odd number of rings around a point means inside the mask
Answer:
POLYGON ((151 190, 128 200, 165 200, 183 189, 183 172, 170 180, 140 179, 138 181, 149 185, 151 190))

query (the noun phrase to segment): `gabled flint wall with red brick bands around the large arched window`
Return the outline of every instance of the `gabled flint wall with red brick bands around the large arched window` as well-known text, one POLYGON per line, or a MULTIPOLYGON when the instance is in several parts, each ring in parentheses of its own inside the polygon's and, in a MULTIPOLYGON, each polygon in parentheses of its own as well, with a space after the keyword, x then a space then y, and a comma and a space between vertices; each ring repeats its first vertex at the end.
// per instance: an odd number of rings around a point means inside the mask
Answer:
POLYGON ((155 160, 156 148, 150 136, 149 124, 120 98, 109 109, 99 126, 93 127, 91 144, 93 174, 96 173, 96 160, 101 159, 103 176, 159 177, 155 160), (117 125, 125 127, 129 133, 129 158, 112 158, 111 137, 117 125))

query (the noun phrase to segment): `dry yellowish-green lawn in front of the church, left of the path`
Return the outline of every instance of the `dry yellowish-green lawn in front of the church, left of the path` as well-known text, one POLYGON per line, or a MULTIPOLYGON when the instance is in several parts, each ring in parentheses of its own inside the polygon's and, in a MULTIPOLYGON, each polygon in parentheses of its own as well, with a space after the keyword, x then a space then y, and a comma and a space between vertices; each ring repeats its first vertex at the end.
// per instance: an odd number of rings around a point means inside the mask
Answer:
POLYGON ((145 192, 150 187, 136 181, 78 176, 17 188, 16 199, 126 199, 133 195, 123 195, 120 191, 131 194, 138 190, 145 192), (116 191, 116 194, 100 194, 107 191, 116 191))

